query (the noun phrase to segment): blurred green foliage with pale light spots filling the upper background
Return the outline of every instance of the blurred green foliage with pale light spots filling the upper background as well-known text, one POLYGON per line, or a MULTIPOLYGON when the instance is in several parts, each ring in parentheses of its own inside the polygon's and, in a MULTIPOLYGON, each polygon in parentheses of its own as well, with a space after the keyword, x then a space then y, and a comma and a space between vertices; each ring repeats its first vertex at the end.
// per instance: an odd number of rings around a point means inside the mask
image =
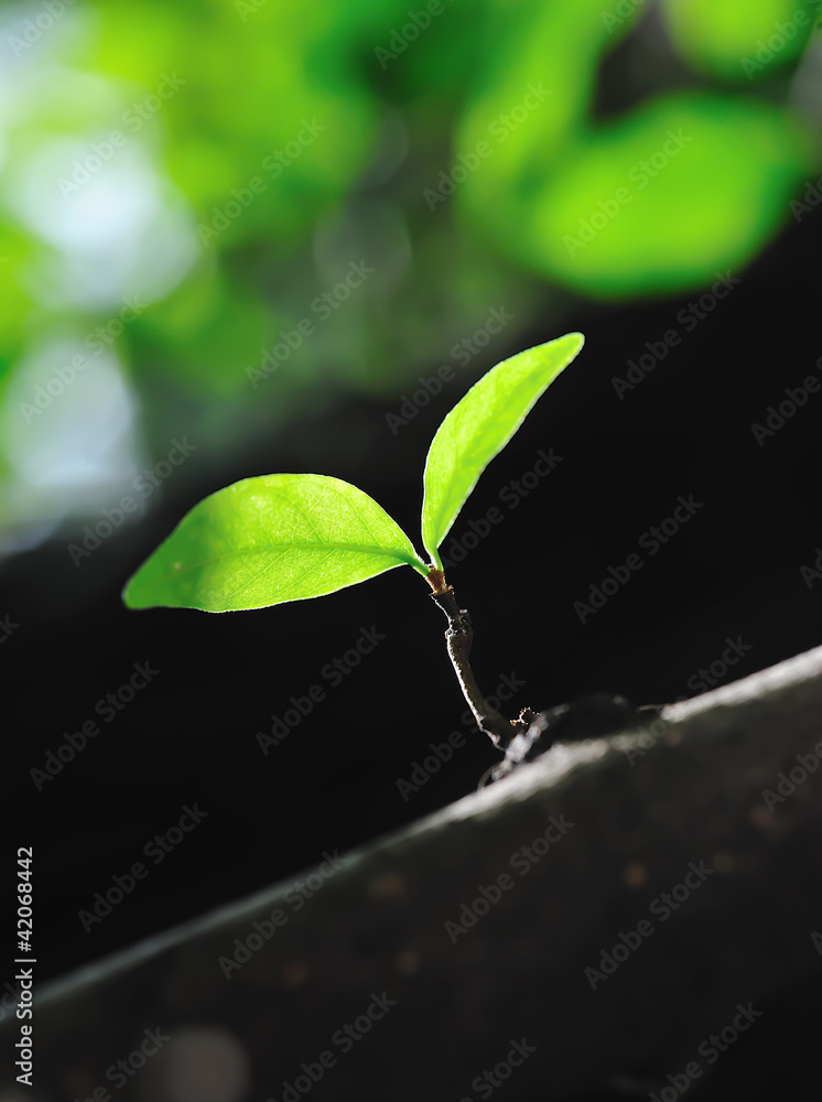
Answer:
POLYGON ((334 391, 393 400, 494 306, 501 358, 569 290, 738 273, 819 171, 819 13, 0 7, 0 521, 94 510, 181 424, 219 452, 334 391))

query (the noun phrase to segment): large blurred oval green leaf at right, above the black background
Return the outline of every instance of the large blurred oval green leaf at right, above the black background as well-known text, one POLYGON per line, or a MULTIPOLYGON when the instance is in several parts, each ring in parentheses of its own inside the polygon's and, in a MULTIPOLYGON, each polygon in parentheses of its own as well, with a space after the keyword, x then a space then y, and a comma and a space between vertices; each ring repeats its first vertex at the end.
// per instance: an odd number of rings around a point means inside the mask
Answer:
POLYGON ((737 272, 776 231, 809 156, 778 108, 666 96, 569 145, 516 245, 593 294, 699 287, 737 272))

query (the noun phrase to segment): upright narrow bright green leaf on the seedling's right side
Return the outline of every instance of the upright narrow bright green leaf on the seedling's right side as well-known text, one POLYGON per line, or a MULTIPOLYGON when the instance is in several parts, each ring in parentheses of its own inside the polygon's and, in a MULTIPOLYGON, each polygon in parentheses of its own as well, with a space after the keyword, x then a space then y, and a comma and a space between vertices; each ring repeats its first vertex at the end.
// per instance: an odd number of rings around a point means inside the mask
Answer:
POLYGON ((422 538, 440 570, 437 548, 479 476, 584 342, 582 333, 567 333, 502 360, 471 388, 437 429, 425 462, 422 538))

